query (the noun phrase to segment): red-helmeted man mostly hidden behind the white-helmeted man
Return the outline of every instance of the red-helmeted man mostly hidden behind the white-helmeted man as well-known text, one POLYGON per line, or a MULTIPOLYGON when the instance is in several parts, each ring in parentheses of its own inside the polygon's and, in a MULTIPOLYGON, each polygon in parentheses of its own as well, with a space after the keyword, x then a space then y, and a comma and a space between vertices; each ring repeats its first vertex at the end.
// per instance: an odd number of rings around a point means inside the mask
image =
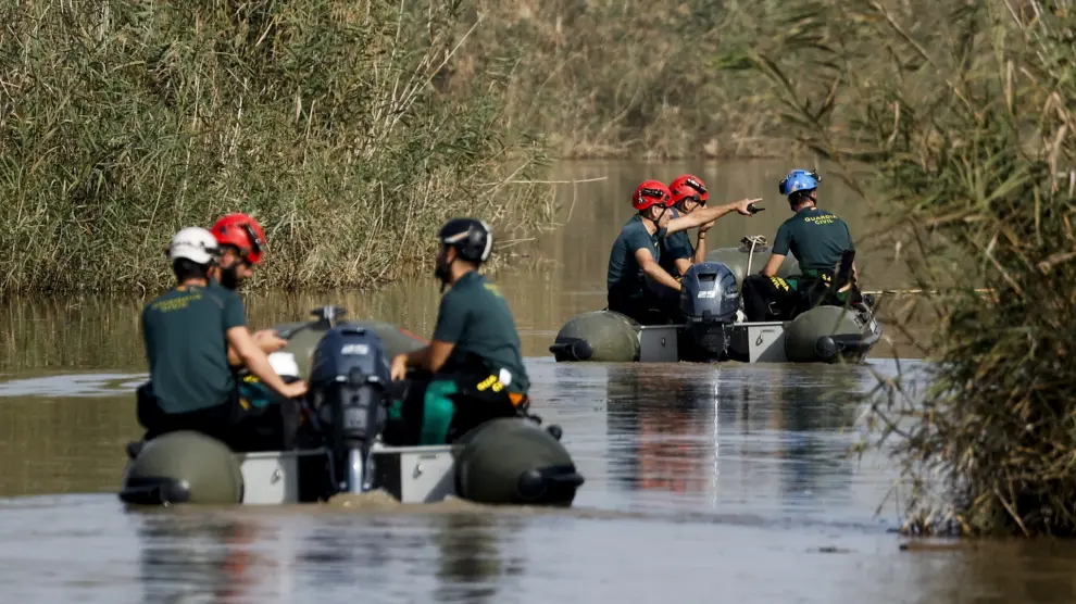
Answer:
MULTIPOLYGON (((265 256, 265 231, 254 218, 235 213, 221 216, 210 227, 210 232, 216 238, 221 250, 210 277, 214 284, 237 291, 265 256)), ((273 329, 259 329, 252 337, 265 354, 272 354, 288 344, 273 329)), ((242 365, 239 353, 232 347, 228 347, 228 363, 233 366, 242 365)))

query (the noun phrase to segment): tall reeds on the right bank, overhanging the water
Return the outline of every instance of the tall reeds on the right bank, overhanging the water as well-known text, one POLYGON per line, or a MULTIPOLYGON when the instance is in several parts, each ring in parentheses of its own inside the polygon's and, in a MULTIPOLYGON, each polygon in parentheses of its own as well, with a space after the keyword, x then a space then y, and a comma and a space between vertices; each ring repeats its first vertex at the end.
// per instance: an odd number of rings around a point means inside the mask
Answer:
POLYGON ((961 286, 919 300, 941 326, 929 389, 876 392, 916 487, 905 528, 1076 533, 1073 3, 798 4, 788 35, 726 65, 780 87, 785 126, 846 166, 923 288, 961 286))

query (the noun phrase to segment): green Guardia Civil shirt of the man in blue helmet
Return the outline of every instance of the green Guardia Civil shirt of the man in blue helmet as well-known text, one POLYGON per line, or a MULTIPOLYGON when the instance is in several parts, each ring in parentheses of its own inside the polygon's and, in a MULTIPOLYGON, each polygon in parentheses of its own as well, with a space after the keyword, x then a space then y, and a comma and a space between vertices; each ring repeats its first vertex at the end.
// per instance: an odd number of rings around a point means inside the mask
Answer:
POLYGON ((773 253, 792 252, 801 270, 836 272, 844 250, 854 250, 852 234, 839 216, 818 207, 801 210, 777 229, 773 253))

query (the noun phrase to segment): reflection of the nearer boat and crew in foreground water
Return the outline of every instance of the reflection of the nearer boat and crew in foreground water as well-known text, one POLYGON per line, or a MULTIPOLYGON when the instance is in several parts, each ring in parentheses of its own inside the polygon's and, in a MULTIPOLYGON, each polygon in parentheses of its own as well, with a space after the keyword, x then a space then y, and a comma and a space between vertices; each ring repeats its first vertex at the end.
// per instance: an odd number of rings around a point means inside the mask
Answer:
POLYGON ((351 601, 362 593, 493 602, 526 564, 505 553, 527 518, 447 507, 292 506, 143 515, 146 602, 351 601), (401 577, 408 577, 401 581, 401 577))

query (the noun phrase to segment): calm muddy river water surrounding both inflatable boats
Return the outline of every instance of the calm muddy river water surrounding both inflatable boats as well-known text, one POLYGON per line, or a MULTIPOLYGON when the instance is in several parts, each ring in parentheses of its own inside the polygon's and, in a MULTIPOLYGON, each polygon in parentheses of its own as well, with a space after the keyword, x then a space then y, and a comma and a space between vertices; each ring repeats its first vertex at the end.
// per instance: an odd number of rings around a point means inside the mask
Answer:
MULTIPOLYGON (((767 212, 711 231, 711 244, 729 247, 772 239, 788 215, 773 193, 788 167, 560 171, 606 179, 561 186, 571 219, 497 280, 516 313, 536 410, 564 427, 587 478, 570 511, 373 500, 124 512, 114 493, 123 445, 139 435, 141 302, 0 306, 2 602, 1073 602, 1068 544, 899 549, 892 463, 847 455, 865 436, 855 393, 896 374, 894 351, 911 350, 899 338, 854 367, 552 361, 559 326, 604 306, 609 244, 645 173, 670 180, 691 169, 717 200, 767 198, 767 212)), ((824 205, 865 232, 865 209, 833 187, 824 205)), ((890 259, 861 252, 867 289, 904 285, 890 259)), ((429 278, 247 303, 257 327, 335 303, 428 335, 437 298, 429 278)))

